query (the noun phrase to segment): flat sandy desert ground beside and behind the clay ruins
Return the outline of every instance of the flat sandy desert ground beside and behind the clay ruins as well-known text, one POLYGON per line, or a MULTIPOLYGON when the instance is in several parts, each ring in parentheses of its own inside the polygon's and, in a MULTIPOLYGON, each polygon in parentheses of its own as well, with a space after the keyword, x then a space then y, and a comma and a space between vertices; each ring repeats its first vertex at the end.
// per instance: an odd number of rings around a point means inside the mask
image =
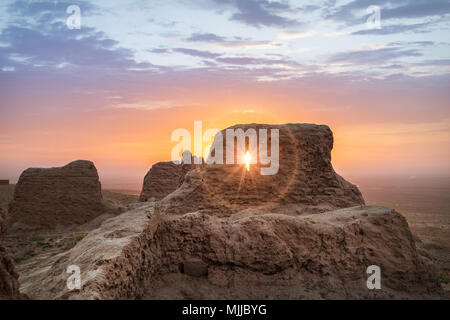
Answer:
MULTIPOLYGON (((435 261, 441 283, 450 298, 450 198, 446 186, 422 187, 374 184, 359 185, 367 204, 384 205, 402 213, 413 232, 417 247, 435 261), (425 188, 425 189, 424 189, 425 188), (425 191, 424 191, 425 190, 425 191)), ((7 212, 14 185, 0 186, 0 206, 7 212)), ((128 206, 137 202, 134 191, 104 190, 104 200, 113 206, 128 206)), ((76 245, 88 232, 110 216, 105 215, 70 231, 8 235, 5 246, 17 263, 19 273, 42 259, 64 252, 76 245)))

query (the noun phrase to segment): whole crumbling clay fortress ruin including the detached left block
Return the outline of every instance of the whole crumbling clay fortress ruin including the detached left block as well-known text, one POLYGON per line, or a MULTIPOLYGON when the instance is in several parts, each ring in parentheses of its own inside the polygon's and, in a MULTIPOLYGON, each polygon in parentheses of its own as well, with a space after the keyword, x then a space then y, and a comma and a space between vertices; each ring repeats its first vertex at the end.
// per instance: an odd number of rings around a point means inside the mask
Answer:
MULTIPOLYGON (((37 278, 21 282, 22 291, 50 299, 441 295, 436 270, 417 251, 405 218, 366 206, 358 188, 334 171, 327 126, 236 127, 279 129, 276 175, 260 175, 258 165, 247 171, 240 164, 154 164, 140 203, 48 259, 37 278), (66 286, 68 265, 81 270, 79 290, 66 286), (371 265, 382 270, 380 290, 367 287, 371 265)), ((8 225, 16 232, 56 228, 60 217, 65 227, 83 223, 105 210, 99 188, 87 162, 26 170, 8 225)))

